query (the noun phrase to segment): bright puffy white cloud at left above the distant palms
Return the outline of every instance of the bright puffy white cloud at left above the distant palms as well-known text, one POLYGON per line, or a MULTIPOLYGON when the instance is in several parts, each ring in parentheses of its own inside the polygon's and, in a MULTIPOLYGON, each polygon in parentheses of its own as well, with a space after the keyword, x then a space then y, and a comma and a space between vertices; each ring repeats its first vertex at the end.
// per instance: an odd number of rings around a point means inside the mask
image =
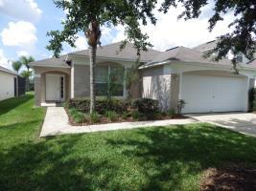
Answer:
POLYGON ((24 47, 27 50, 35 46, 36 38, 35 26, 30 22, 10 22, 8 28, 4 29, 0 36, 6 46, 24 47))

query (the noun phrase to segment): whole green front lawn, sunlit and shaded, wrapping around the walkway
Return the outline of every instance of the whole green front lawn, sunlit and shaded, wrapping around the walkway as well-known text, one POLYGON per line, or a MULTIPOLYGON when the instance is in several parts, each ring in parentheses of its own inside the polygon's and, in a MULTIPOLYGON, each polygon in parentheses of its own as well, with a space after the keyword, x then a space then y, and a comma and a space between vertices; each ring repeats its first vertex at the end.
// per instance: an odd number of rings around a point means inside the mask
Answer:
POLYGON ((33 105, 0 102, 0 190, 198 190, 209 167, 255 167, 256 138, 209 124, 38 138, 33 105))

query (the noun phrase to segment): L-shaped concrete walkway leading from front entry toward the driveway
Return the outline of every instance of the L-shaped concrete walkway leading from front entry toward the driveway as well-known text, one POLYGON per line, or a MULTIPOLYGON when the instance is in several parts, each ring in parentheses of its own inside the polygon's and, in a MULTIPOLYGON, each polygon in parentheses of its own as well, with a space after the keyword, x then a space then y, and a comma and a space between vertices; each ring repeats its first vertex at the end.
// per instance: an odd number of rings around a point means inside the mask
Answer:
POLYGON ((97 124, 88 126, 72 126, 68 123, 68 116, 62 107, 48 107, 44 118, 40 137, 64 135, 64 134, 81 134, 100 131, 112 131, 119 129, 133 129, 140 127, 167 126, 177 124, 188 124, 196 122, 192 118, 186 119, 168 119, 154 121, 138 121, 138 122, 121 122, 97 124))

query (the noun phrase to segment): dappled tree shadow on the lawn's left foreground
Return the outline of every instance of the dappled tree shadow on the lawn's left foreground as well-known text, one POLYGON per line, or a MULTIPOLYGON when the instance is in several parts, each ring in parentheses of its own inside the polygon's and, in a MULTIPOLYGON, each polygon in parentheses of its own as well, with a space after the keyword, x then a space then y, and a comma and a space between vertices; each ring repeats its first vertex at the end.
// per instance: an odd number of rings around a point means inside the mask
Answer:
POLYGON ((115 171, 107 159, 70 157, 80 136, 29 141, 0 153, 1 190, 94 190, 104 189, 115 171), (111 171, 105 171, 111 169, 111 171), (97 180, 102 172, 105 176, 97 180))

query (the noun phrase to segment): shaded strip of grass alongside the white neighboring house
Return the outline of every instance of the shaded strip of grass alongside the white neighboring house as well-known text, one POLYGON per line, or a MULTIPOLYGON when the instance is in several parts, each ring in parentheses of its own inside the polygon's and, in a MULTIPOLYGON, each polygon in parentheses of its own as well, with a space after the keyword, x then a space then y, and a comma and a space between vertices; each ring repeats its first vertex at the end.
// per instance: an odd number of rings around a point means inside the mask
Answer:
POLYGON ((0 101, 0 116, 10 112, 12 109, 19 105, 31 100, 34 97, 32 94, 20 97, 12 97, 3 101, 0 101))

